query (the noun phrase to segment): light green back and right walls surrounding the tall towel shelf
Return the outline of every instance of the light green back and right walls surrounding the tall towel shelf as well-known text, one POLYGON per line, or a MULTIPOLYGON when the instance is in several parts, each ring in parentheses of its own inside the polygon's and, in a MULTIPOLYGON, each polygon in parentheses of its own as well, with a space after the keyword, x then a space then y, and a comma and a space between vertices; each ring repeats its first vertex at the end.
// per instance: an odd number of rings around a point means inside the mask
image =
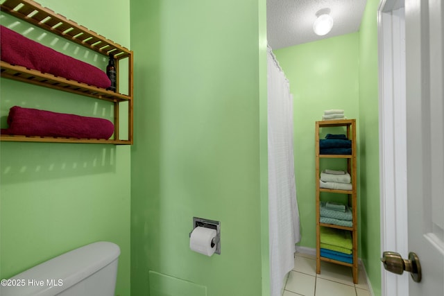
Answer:
POLYGON ((381 295, 377 7, 368 0, 359 33, 275 51, 294 95, 295 171, 301 246, 315 247, 314 121, 343 109, 357 119, 359 258, 375 295, 381 295))

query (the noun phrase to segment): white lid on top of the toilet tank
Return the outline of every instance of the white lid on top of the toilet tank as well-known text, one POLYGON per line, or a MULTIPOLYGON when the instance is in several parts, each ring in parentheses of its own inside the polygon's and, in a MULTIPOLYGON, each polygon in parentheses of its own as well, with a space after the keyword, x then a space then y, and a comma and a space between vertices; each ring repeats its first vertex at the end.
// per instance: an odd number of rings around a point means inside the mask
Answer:
MULTIPOLYGON (((55 295, 82 281, 119 258, 120 248, 115 243, 99 241, 61 254, 49 261, 25 270, 10 279, 24 279, 20 295, 55 295), (30 285, 29 281, 44 281, 44 285, 30 285), (51 286, 47 281, 61 285, 51 286)), ((8 294, 8 287, 1 288, 1 295, 8 294)), ((10 295, 16 295, 11 289, 10 295)))

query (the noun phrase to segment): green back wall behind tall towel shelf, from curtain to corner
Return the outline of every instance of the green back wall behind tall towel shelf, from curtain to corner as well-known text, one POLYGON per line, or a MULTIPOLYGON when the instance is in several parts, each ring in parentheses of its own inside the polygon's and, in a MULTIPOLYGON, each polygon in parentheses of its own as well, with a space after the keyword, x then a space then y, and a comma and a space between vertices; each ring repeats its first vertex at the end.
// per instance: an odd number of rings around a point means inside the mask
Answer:
MULTIPOLYGON (((301 241, 316 247, 314 122, 324 110, 359 112, 359 34, 352 33, 274 51, 293 94, 294 162, 301 241)), ((341 164, 334 164, 341 165, 341 164)))

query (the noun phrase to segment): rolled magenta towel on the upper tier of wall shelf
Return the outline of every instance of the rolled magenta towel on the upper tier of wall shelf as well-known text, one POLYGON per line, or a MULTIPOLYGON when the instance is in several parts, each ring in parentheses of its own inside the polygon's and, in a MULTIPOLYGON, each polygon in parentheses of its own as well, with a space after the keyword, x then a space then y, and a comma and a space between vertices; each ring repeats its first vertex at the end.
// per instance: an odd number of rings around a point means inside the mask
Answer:
POLYGON ((0 31, 1 60, 54 76, 108 88, 111 81, 101 69, 54 51, 5 26, 0 31))

